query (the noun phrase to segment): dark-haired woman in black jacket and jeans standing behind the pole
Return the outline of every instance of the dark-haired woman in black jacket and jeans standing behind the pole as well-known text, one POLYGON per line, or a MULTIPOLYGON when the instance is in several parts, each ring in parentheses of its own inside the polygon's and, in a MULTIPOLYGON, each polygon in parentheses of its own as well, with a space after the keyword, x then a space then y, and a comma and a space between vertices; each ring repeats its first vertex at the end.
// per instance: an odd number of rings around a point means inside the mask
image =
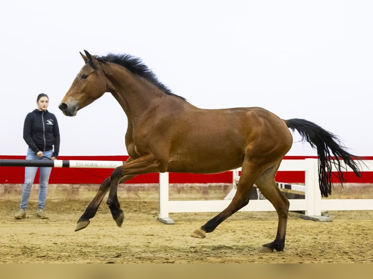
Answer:
MULTIPOLYGON (((49 98, 46 94, 37 96, 37 109, 27 114, 23 125, 23 139, 28 145, 26 160, 55 160, 59 152, 59 129, 56 116, 47 108, 49 98), (54 149, 54 150, 53 150, 54 149)), ((16 219, 26 218, 26 209, 38 167, 25 167, 25 182, 23 185, 20 210, 14 216, 16 219)), ((49 176, 52 168, 40 167, 40 188, 36 217, 48 218, 44 212, 49 176)))

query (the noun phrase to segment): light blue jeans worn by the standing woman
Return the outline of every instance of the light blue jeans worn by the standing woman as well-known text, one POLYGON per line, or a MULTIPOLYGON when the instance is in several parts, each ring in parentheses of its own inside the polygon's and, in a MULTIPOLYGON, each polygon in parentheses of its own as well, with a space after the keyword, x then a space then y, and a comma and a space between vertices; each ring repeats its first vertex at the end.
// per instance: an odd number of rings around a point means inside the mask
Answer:
MULTIPOLYGON (((43 156, 51 158, 53 150, 44 151, 43 156)), ((49 160, 48 158, 38 157, 32 149, 27 150, 26 160, 49 160)), ((35 180, 35 175, 38 167, 25 167, 25 183, 22 189, 21 202, 19 204, 20 209, 27 209, 29 201, 31 187, 35 180)), ((39 188, 39 203, 37 209, 44 209, 45 199, 47 198, 49 176, 51 175, 52 168, 40 167, 40 188, 39 188)))

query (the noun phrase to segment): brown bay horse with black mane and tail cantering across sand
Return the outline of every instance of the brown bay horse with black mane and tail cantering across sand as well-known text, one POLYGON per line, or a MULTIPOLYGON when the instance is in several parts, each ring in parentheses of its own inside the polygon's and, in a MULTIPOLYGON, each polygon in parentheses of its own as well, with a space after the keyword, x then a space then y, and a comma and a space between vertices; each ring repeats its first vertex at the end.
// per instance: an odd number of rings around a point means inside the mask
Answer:
POLYGON ((87 51, 80 54, 85 65, 59 108, 65 115, 75 116, 79 109, 111 92, 128 118, 126 146, 130 157, 101 184, 75 231, 88 226, 109 190, 107 204, 120 227, 124 215, 117 198, 118 184, 138 174, 210 174, 242 167, 232 202, 191 236, 205 238, 207 232, 247 205, 255 183, 279 217, 276 239, 264 244, 262 250, 282 251, 289 201, 276 186, 275 174, 292 146, 289 128, 296 129, 303 140, 317 149, 323 196, 331 193, 332 164, 336 165, 340 179, 343 179, 342 161, 360 175, 354 156, 341 146, 335 135, 313 122, 282 120, 260 107, 201 109, 173 94, 139 58, 128 54, 98 57, 87 51))

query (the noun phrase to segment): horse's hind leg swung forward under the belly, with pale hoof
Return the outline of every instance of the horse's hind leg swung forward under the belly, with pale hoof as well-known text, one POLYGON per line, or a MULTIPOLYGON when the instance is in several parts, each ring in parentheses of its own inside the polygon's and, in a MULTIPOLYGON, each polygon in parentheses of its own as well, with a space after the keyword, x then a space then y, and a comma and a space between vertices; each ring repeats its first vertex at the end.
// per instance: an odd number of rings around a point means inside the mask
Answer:
POLYGON ((196 238, 205 238, 206 233, 212 232, 216 227, 219 226, 226 218, 231 216, 233 213, 242 209, 245 205, 249 203, 250 193, 256 174, 248 170, 244 171, 242 167, 242 173, 240 181, 237 186, 237 192, 234 195, 229 206, 224 209, 221 213, 216 215, 214 218, 209 220, 205 225, 197 228, 190 236, 196 238))

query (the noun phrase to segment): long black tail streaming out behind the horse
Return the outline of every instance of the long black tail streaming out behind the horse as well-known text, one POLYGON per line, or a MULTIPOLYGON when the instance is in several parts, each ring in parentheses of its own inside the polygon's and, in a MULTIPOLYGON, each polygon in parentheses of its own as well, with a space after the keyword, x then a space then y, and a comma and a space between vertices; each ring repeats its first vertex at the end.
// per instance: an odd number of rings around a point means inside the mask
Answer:
POLYGON ((304 119, 289 119, 285 120, 285 123, 293 132, 297 130, 302 140, 310 143, 312 148, 317 151, 318 184, 322 196, 327 197, 328 194, 332 192, 332 163, 338 170, 337 177, 341 182, 344 181, 342 173, 344 168, 341 165, 341 160, 343 160, 358 177, 361 176, 359 162, 354 160, 354 158, 361 158, 348 153, 336 135, 304 119))

